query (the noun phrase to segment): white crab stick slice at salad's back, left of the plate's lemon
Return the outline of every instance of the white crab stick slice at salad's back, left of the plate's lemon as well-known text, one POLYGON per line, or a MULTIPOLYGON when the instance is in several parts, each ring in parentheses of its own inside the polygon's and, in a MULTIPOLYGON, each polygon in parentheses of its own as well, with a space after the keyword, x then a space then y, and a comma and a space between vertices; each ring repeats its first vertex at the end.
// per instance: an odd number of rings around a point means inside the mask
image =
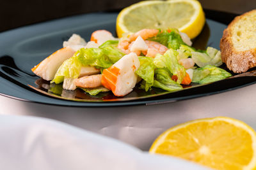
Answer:
POLYGON ((92 33, 91 41, 102 45, 108 40, 115 40, 116 38, 113 37, 112 33, 106 30, 97 30, 92 33))

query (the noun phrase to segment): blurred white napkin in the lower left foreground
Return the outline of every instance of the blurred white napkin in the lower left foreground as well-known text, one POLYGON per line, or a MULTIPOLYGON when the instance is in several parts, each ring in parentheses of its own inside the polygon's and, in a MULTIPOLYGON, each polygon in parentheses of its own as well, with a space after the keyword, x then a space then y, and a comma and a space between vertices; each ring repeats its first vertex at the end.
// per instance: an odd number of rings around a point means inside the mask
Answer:
POLYGON ((1 169, 207 169, 46 118, 1 115, 0 136, 1 169))

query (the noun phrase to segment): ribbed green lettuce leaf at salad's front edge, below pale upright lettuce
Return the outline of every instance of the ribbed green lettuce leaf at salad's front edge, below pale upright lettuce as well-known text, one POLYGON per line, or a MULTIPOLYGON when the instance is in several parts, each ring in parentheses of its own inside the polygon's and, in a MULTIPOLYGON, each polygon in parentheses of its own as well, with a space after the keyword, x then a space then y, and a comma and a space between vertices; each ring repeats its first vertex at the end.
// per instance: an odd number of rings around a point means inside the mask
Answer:
POLYGON ((179 83, 172 80, 172 76, 168 69, 156 69, 156 80, 154 80, 154 87, 173 92, 182 89, 179 83))

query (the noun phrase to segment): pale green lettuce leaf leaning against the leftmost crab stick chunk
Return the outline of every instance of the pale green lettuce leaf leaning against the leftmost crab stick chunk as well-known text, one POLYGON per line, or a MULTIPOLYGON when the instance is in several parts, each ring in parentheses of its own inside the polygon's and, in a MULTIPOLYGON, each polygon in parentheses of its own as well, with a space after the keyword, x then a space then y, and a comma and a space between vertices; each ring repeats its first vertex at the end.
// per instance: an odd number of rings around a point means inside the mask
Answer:
POLYGON ((59 67, 51 83, 61 83, 63 82, 64 78, 77 78, 81 71, 81 67, 81 62, 74 56, 65 60, 59 67))

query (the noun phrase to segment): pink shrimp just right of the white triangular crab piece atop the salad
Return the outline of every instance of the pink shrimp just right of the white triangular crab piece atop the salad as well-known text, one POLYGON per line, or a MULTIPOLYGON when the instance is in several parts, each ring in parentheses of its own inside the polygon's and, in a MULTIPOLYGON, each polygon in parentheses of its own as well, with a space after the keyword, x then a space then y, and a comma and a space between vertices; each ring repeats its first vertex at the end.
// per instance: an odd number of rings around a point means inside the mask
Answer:
POLYGON ((157 53, 164 54, 168 48, 161 43, 157 43, 156 41, 148 41, 146 40, 145 43, 148 46, 147 51, 143 51, 142 53, 147 57, 156 57, 157 53))

